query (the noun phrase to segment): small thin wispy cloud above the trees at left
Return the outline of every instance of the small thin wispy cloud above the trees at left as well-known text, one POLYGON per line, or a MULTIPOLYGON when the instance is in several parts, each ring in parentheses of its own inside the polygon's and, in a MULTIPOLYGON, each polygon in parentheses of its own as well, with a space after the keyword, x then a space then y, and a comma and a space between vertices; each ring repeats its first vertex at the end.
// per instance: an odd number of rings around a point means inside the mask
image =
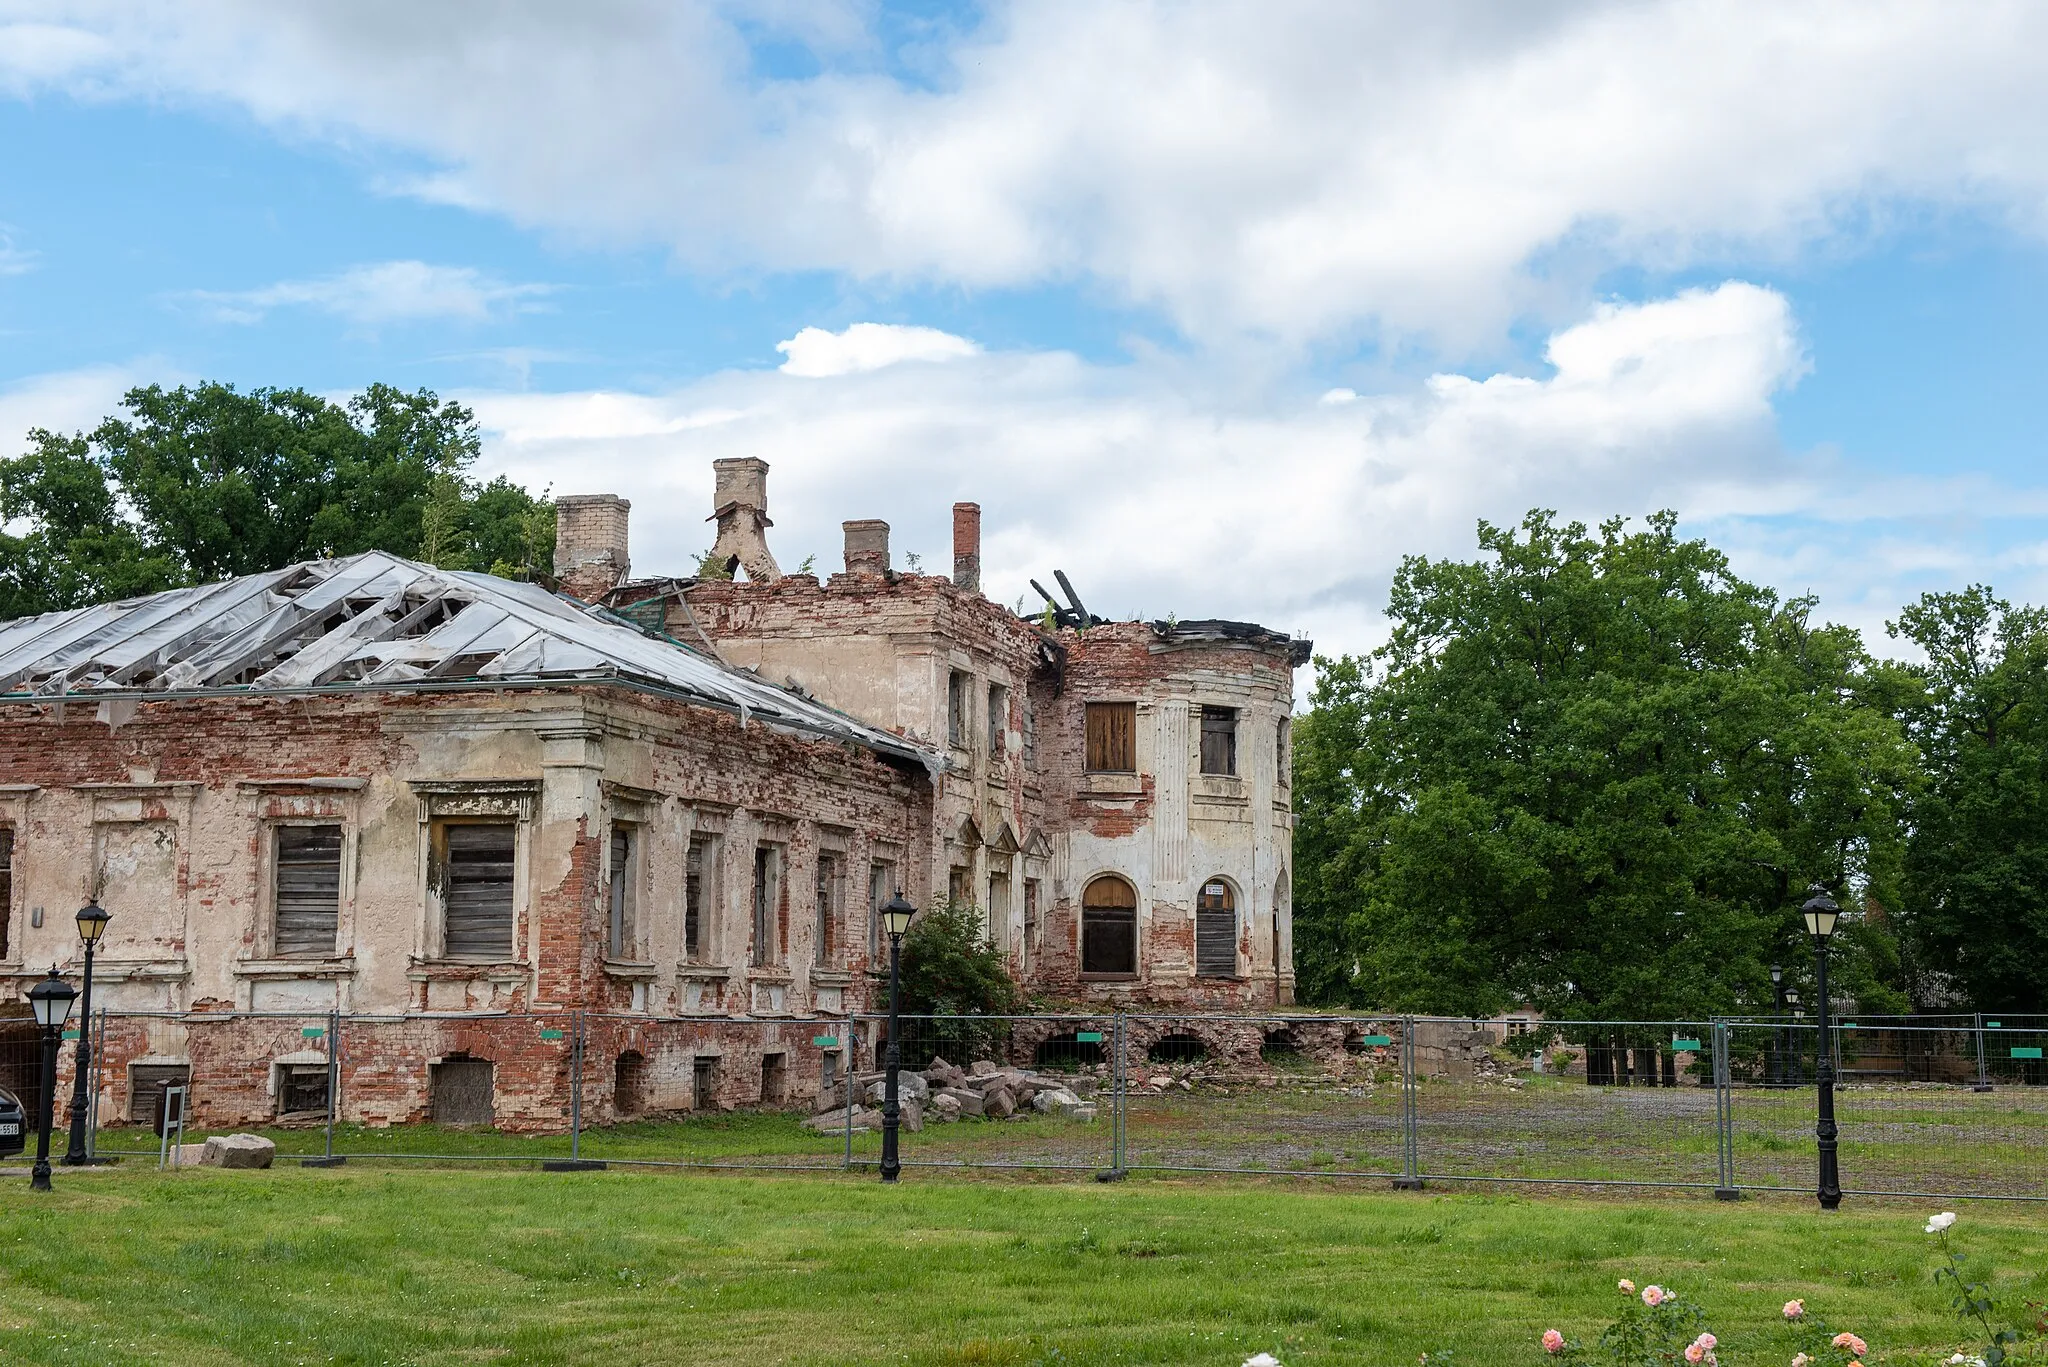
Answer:
POLYGON ((244 291, 195 289, 184 297, 221 322, 248 324, 260 322, 270 309, 311 307, 362 328, 377 328, 428 320, 489 322, 530 309, 532 301, 547 293, 549 285, 512 285, 473 266, 385 260, 315 281, 279 281, 244 291))

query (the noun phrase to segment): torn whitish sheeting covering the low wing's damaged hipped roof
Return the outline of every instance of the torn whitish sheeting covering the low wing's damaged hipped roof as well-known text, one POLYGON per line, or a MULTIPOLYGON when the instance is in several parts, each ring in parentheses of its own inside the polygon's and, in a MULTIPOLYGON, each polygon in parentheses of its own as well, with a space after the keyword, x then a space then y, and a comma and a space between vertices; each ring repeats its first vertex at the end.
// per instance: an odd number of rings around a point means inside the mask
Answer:
POLYGON ((0 697, 8 701, 453 680, 649 685, 737 711, 741 721, 913 758, 932 773, 944 764, 901 736, 537 584, 385 551, 0 623, 0 697))

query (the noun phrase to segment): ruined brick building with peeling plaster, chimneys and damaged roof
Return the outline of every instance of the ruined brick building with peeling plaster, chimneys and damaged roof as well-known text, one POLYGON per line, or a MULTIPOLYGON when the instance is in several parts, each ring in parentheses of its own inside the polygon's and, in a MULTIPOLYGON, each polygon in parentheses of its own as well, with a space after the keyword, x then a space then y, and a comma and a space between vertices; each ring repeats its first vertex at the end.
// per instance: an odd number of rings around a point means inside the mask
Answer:
POLYGON ((874 521, 782 574, 766 473, 717 463, 735 578, 631 578, 629 506, 575 496, 561 594, 373 551, 0 623, 0 994, 76 971, 96 896, 98 1002, 156 1012, 109 1031, 104 1113, 199 1074, 203 1115, 303 1111, 326 1055, 262 1012, 334 1010, 389 1023, 352 1119, 514 1125, 561 1115, 571 1010, 618 1111, 813 1092, 899 887, 1040 996, 1292 1000, 1307 644, 1022 619, 973 504, 950 576, 874 521))

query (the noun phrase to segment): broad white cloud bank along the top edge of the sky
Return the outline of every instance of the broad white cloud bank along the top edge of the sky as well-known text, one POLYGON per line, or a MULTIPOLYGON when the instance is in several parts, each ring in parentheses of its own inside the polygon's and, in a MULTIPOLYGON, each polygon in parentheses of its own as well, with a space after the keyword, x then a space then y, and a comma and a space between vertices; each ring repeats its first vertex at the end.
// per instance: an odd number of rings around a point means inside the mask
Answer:
POLYGON ((2048 227, 2028 0, 995 2, 924 39, 918 86, 852 0, 14 12, 0 88, 219 100, 711 271, 1090 279, 1200 336, 1485 342, 1608 266, 1796 252, 1898 203, 2048 227), (764 78, 760 33, 821 74, 764 78))

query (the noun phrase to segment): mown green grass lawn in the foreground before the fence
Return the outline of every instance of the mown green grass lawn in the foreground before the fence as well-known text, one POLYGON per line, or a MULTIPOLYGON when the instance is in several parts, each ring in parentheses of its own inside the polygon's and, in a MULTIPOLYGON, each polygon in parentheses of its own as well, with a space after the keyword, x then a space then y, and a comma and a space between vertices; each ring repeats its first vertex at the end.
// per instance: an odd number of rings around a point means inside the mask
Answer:
MULTIPOLYGON (((1274 1180, 350 1166, 0 1187, 8 1363, 1538 1363, 1614 1281, 1708 1310, 1722 1363, 1808 1306, 1870 1363, 1964 1347, 1925 1211, 1419 1195, 1274 1180)), ((1954 1232, 2048 1299, 2048 1211, 1954 1232)))

